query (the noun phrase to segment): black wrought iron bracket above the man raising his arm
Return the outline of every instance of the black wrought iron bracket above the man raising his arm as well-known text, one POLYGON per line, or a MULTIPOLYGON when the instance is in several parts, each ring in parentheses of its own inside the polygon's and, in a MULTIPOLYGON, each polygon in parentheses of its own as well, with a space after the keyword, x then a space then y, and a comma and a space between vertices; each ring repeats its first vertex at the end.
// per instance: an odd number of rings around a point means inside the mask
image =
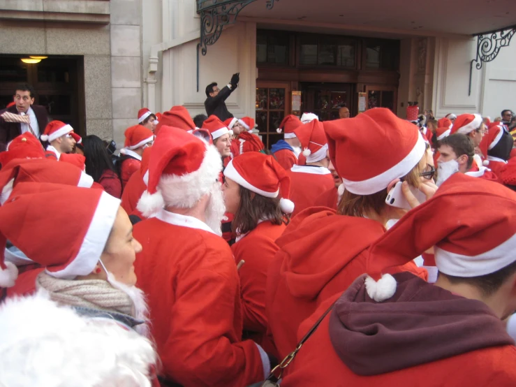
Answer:
MULTIPOLYGON (((200 54, 206 55, 207 46, 219 40, 222 30, 237 21, 239 12, 256 0, 197 0, 200 15, 200 43, 197 45, 197 91, 199 91, 200 54)), ((274 7, 274 1, 267 0, 267 9, 274 7)))

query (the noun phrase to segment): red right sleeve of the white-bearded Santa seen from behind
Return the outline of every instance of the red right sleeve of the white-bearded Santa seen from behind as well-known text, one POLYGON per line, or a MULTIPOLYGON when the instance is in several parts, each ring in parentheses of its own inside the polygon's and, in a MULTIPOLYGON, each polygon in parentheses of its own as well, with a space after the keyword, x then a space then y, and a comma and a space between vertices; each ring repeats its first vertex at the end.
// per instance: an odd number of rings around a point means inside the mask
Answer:
POLYGON ((170 310, 170 335, 161 353, 168 376, 184 387, 237 387, 263 380, 256 344, 237 342, 239 284, 229 247, 194 254, 177 268, 180 281, 170 310), (227 259, 221 254, 228 254, 227 259))

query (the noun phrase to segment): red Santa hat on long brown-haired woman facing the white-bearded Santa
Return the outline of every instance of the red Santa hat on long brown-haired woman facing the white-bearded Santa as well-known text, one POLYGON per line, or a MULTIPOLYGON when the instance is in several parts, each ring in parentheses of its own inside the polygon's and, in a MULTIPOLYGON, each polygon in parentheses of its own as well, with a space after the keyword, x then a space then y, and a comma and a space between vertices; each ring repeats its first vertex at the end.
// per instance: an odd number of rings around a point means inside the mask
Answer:
POLYGON ((259 152, 241 154, 228 163, 224 176, 266 198, 277 198, 281 188, 281 211, 294 211, 294 203, 288 200, 290 177, 273 156, 259 152))

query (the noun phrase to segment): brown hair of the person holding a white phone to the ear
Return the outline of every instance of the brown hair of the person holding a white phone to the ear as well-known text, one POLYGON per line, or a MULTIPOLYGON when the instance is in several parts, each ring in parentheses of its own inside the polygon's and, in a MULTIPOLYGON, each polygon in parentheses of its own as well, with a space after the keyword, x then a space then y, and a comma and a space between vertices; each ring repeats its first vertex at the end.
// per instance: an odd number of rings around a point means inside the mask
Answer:
MULTIPOLYGON (((423 168, 425 168, 426 162, 425 151, 419 163, 403 177, 403 180, 413 187, 419 187, 421 184, 419 174, 423 168)), ((376 214, 381 214, 386 205, 385 199, 387 195, 387 188, 371 195, 356 195, 352 194, 350 191, 344 191, 341 201, 339 202, 337 214, 348 215, 349 217, 363 217, 364 214, 371 210, 376 212, 376 214)))

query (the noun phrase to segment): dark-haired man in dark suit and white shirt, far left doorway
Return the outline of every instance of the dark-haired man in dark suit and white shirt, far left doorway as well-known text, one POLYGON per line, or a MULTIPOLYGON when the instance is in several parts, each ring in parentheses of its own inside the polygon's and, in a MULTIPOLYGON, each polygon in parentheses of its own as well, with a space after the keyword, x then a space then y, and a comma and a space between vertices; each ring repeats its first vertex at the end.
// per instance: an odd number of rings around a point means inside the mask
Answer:
POLYGON ((36 93, 34 88, 27 84, 17 85, 13 96, 14 105, 0 110, 0 116, 4 112, 15 115, 28 115, 28 122, 18 122, 0 117, 0 143, 7 144, 13 138, 25 132, 34 131, 34 135, 39 138, 48 124, 47 110, 44 106, 34 105, 36 93), (30 125, 30 128, 29 128, 30 125))

